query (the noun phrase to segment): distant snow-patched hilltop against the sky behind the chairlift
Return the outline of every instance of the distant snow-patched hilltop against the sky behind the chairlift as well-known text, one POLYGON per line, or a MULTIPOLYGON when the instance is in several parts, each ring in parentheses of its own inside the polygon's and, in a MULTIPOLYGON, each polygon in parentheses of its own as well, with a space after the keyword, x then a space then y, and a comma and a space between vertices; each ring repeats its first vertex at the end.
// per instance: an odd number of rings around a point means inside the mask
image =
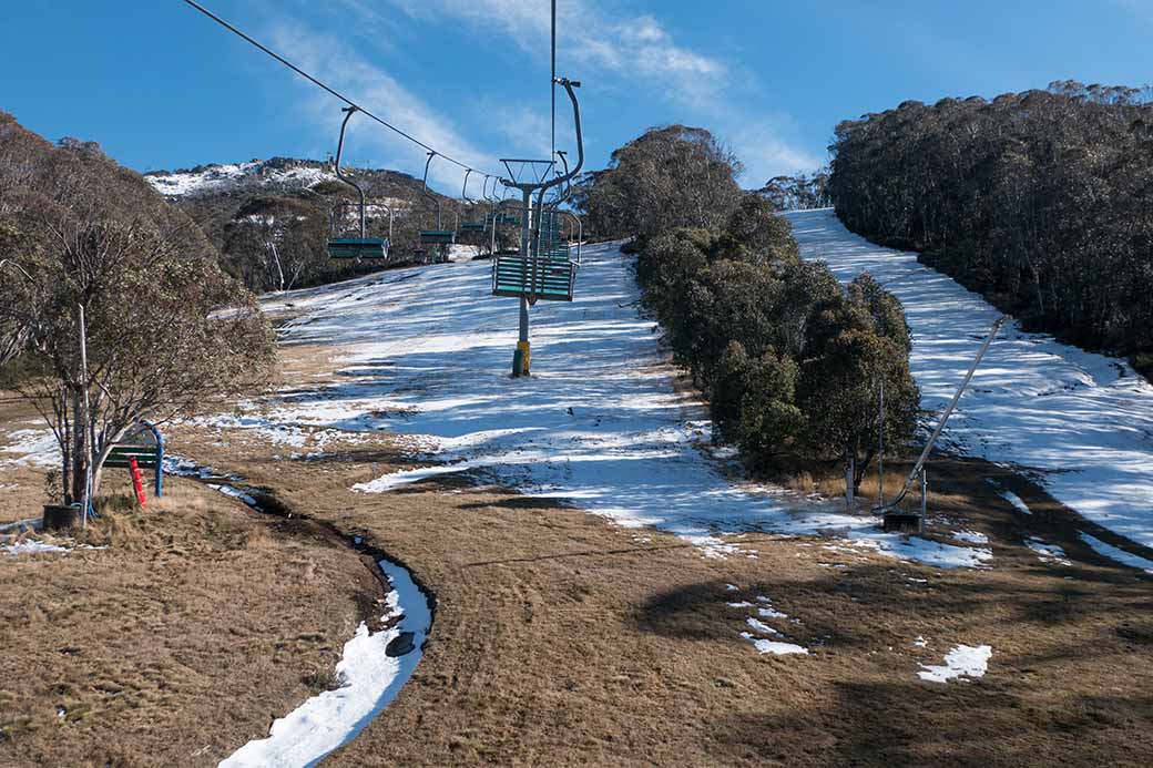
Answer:
POLYGON ((312 187, 336 175, 316 160, 274 157, 248 163, 211 164, 178 171, 152 171, 144 178, 167 197, 190 197, 250 187, 312 187))

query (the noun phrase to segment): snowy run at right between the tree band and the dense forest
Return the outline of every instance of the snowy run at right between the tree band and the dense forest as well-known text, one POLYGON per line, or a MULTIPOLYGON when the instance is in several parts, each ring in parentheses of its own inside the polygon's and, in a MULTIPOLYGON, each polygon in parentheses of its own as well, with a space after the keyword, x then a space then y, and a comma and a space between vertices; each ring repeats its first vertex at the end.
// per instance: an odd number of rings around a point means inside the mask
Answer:
MULTIPOLYGON (((830 210, 787 217, 806 258, 827 262, 843 281, 867 270, 900 299, 921 405, 943 409, 1000 313, 915 254, 853 235, 830 210)), ((1085 518, 1153 547, 1153 386, 1125 361, 1010 322, 944 437, 959 452, 1018 468, 1085 518)))

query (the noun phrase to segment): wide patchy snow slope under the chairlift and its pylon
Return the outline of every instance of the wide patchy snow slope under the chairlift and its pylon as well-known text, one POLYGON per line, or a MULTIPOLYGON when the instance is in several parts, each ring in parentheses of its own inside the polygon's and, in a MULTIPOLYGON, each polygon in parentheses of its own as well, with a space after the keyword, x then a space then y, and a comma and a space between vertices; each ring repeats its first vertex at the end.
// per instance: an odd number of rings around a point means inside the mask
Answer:
MULTIPOLYGON (((616 522, 656 526, 710 557, 756 552, 721 534, 835 533, 882 554, 977 566, 987 548, 881 533, 839 505, 723 475, 702 404, 673 387, 632 258, 587 248, 572 303, 532 309, 533 376, 508 376, 517 301, 490 295, 489 263, 390 271, 270 298, 291 309, 281 342, 332 348, 336 381, 253 404, 231 424, 282 431, 384 429, 413 436, 428 466, 356 487, 374 494, 470 472, 565 499, 616 522)), ((223 424, 221 424, 223 426, 223 424)))

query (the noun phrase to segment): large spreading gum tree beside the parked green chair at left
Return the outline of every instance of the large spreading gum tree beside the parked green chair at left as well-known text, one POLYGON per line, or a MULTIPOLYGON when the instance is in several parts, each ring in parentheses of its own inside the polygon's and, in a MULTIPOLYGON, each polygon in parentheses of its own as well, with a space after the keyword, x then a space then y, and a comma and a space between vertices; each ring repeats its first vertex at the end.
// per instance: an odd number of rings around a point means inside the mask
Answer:
POLYGON ((15 357, 2 372, 52 428, 70 503, 83 495, 89 455, 98 487, 113 444, 140 420, 189 414, 262 381, 273 337, 201 231, 140 175, 91 144, 53 148, 8 115, 0 131, 20 148, 0 165, 0 259, 9 262, 0 348, 15 357))

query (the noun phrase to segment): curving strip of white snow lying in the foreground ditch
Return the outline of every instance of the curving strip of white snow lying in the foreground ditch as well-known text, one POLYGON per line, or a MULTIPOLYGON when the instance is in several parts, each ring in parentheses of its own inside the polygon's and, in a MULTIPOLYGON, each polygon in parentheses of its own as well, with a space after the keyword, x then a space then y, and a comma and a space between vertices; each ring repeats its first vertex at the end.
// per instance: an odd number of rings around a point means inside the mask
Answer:
POLYGON ((400 612, 399 624, 374 634, 362 623, 337 664, 341 686, 312 697, 273 722, 269 738, 249 741, 221 761, 223 768, 315 765, 354 739, 397 697, 421 660, 432 615, 408 571, 387 560, 380 560, 380 569, 393 588, 382 620, 400 612), (385 648, 404 632, 413 633, 414 649, 404 656, 386 655, 385 648))

